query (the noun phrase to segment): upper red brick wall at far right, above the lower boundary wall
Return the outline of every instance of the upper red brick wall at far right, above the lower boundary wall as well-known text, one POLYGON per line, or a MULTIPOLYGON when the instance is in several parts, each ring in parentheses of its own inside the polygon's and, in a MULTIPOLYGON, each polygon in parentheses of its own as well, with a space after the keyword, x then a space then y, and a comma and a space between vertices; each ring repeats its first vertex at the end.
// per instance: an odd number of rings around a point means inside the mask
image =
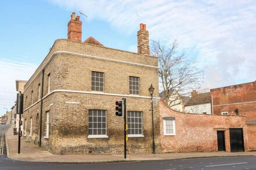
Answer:
POLYGON ((256 120, 256 81, 211 89, 211 95, 214 114, 228 111, 229 115, 236 115, 234 110, 238 108, 239 115, 245 115, 247 121, 256 120), (227 105, 218 106, 222 104, 227 105))

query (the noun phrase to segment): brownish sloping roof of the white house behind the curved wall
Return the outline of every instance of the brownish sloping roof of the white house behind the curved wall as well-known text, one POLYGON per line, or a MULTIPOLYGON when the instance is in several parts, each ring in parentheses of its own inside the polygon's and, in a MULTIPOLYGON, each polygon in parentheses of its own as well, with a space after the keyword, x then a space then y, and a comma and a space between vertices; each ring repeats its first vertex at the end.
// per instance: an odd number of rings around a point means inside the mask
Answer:
POLYGON ((191 96, 189 102, 185 104, 185 106, 193 106, 197 104, 205 104, 211 103, 211 94, 208 93, 198 93, 194 96, 191 96))

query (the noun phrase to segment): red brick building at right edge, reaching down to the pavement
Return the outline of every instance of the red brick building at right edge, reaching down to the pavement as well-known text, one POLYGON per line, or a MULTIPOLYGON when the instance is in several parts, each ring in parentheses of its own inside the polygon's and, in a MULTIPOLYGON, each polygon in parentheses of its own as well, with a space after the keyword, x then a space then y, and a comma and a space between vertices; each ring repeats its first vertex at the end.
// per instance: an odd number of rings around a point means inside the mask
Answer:
POLYGON ((246 117, 248 147, 256 150, 256 81, 210 90, 214 114, 246 117))

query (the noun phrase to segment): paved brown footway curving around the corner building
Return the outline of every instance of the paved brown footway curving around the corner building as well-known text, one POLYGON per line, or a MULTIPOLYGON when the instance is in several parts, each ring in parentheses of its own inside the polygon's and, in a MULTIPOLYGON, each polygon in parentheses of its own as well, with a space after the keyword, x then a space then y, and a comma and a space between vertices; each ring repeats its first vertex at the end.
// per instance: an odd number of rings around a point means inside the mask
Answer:
POLYGON ((21 139, 20 154, 17 154, 18 136, 13 135, 13 126, 5 133, 7 156, 12 160, 32 162, 125 162, 125 161, 150 161, 150 160, 175 160, 182 158, 206 158, 206 157, 237 157, 256 156, 256 151, 250 152, 209 152, 209 153, 161 153, 161 154, 73 154, 55 155, 49 153, 44 147, 39 147, 33 142, 21 139))

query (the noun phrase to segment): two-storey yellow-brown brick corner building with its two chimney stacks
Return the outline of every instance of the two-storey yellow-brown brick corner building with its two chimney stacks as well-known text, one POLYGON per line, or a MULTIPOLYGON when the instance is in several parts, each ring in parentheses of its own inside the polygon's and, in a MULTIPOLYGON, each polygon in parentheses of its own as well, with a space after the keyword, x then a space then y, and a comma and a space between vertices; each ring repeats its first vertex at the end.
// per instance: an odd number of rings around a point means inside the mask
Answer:
MULTIPOLYGON (((81 26, 72 13, 67 39, 54 42, 24 86, 24 137, 54 154, 122 153, 123 118, 115 115, 115 101, 125 97, 128 153, 151 153, 148 88, 154 85, 157 97, 158 59, 150 56, 145 24, 137 32, 138 53, 106 48, 93 37, 81 42, 81 26)), ((159 151, 157 105, 154 102, 159 151)))

